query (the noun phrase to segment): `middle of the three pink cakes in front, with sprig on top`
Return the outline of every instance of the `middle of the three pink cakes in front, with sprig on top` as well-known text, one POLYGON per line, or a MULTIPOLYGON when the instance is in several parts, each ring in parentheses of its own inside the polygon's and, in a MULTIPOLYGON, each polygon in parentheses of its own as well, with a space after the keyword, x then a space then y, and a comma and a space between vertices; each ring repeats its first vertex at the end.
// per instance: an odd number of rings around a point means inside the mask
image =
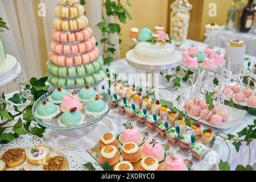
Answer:
POLYGON ((142 147, 142 156, 152 156, 157 160, 162 159, 164 156, 164 148, 158 139, 147 139, 142 147))

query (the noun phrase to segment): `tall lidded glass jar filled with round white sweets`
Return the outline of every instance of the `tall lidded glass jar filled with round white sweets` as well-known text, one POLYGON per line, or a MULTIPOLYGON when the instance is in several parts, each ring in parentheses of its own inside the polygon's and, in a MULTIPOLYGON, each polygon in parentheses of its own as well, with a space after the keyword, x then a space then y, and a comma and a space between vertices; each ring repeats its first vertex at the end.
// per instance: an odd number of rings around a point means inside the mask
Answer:
POLYGON ((189 19, 193 7, 187 0, 176 0, 171 5, 171 38, 177 48, 185 42, 188 35, 189 19))

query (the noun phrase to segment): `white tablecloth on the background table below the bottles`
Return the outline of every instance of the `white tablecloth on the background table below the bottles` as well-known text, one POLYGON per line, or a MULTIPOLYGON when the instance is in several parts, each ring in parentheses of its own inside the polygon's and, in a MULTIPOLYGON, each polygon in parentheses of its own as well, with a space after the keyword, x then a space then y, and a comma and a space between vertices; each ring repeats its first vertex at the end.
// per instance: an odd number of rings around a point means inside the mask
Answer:
POLYGON ((250 33, 242 33, 239 31, 230 31, 226 30, 225 26, 220 28, 218 34, 212 39, 205 39, 205 43, 210 43, 213 46, 218 46, 225 48, 226 44, 230 42, 232 39, 239 38, 245 41, 246 44, 246 54, 251 56, 256 56, 255 46, 256 46, 256 35, 250 33))

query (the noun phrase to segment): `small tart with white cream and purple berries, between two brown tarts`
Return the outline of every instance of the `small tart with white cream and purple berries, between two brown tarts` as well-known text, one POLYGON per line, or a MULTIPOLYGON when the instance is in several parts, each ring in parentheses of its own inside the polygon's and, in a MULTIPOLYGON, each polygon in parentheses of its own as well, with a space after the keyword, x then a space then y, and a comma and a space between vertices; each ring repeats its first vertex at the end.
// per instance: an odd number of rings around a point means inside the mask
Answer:
POLYGON ((27 162, 33 165, 42 165, 50 158, 47 146, 34 146, 27 152, 27 162))

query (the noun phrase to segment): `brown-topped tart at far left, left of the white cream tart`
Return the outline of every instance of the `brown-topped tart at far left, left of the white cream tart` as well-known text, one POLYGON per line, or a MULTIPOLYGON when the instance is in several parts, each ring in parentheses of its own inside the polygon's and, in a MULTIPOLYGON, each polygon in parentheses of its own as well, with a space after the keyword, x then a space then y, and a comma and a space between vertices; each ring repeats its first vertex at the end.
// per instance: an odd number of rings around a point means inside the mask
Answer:
POLYGON ((16 167, 26 160, 26 151, 23 148, 12 148, 3 153, 1 160, 6 167, 16 167))

